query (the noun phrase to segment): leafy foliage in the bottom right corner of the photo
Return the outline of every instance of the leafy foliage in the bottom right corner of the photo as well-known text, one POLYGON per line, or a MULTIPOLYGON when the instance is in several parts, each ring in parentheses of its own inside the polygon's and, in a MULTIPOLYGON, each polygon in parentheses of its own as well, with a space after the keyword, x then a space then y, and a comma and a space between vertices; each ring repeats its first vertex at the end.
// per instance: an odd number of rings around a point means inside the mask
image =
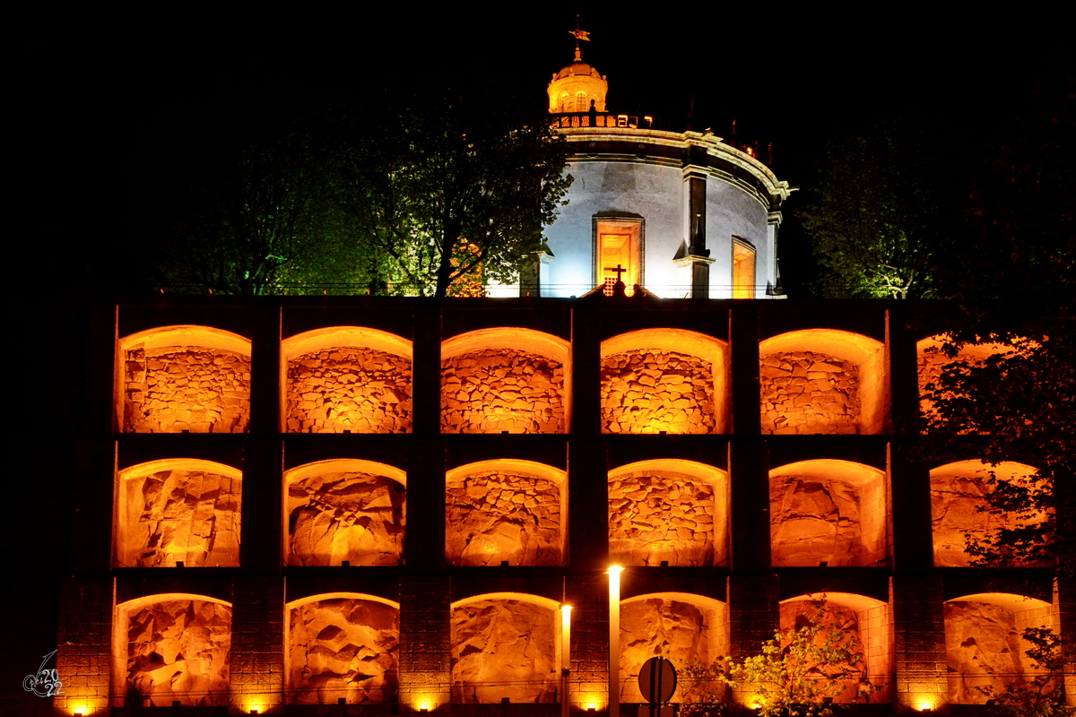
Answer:
POLYGON ((1023 639, 1032 644, 1024 655, 1040 674, 1010 683, 1001 693, 993 687, 977 689, 989 698, 992 712, 1006 717, 1073 717, 1076 707, 1065 704, 1060 677, 1076 656, 1064 654, 1061 639, 1049 628, 1028 628, 1023 639))

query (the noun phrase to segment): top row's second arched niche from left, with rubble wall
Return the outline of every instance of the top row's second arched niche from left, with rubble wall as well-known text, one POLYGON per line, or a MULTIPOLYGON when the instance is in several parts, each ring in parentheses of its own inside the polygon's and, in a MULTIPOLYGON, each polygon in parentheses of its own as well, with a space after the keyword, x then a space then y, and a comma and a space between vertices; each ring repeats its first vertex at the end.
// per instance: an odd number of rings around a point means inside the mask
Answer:
POLYGON ((358 326, 315 329, 281 344, 282 430, 411 431, 411 342, 358 326))

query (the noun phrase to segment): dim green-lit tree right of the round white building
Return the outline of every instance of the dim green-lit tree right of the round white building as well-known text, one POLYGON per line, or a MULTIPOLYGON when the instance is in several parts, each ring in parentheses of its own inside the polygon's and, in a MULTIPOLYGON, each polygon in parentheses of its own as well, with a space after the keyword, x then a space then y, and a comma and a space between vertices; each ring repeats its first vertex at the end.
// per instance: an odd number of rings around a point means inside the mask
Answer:
POLYGON ((796 214, 811 236, 825 296, 933 295, 932 256, 952 228, 936 155, 907 125, 832 142, 796 214))

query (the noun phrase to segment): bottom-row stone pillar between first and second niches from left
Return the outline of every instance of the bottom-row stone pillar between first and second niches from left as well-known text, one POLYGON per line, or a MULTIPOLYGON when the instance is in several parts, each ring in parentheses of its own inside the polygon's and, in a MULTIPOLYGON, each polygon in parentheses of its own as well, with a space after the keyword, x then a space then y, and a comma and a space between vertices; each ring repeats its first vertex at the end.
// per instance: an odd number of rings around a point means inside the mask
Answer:
POLYGON ((284 578, 235 578, 229 712, 280 711, 285 702, 284 639, 284 578))

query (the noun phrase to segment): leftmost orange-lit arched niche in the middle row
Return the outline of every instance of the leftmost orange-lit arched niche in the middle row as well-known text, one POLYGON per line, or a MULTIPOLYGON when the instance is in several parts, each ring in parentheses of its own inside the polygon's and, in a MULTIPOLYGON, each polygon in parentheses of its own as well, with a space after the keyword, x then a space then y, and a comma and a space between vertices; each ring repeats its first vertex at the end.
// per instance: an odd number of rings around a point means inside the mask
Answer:
POLYGON ((117 568, 236 568, 242 473, 230 465, 169 458, 118 472, 114 513, 117 568))

